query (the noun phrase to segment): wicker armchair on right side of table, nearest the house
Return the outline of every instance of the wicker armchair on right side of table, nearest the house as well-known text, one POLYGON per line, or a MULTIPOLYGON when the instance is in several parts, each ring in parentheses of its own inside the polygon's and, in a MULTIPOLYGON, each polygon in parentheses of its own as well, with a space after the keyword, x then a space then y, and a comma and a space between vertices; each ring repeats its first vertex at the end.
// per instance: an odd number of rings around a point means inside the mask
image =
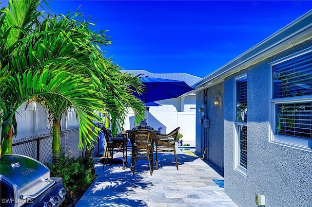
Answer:
MULTIPOLYGON (((176 137, 180 127, 170 132, 167 135, 158 134, 156 137, 156 170, 158 170, 157 154, 159 152, 173 152, 176 158, 176 137)), ((176 158, 176 170, 179 170, 176 158)))

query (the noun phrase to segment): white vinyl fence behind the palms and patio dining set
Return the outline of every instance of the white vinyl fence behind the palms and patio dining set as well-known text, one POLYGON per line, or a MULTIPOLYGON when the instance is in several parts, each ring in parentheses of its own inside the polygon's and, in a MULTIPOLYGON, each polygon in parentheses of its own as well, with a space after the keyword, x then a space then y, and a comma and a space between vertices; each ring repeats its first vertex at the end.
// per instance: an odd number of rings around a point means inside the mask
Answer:
MULTIPOLYGON (((99 114, 99 116, 101 115, 99 114)), ((43 107, 37 103, 31 103, 27 107, 26 104, 23 104, 16 113, 16 119, 18 135, 13 138, 13 153, 28 155, 35 159, 37 157, 40 161, 47 163, 51 162, 52 125, 49 123, 43 107)), ((146 119, 147 124, 154 129, 162 127, 162 134, 168 134, 176 127, 180 127, 179 133, 183 135, 184 143, 195 142, 195 112, 146 112, 146 119)), ((78 127, 76 112, 69 109, 66 120, 61 120, 61 142, 71 156, 82 155, 82 152, 77 149, 78 127)), ((129 113, 123 127, 125 130, 134 127, 133 112, 129 113)), ((98 154, 101 150, 101 147, 95 143, 94 154, 98 154)))

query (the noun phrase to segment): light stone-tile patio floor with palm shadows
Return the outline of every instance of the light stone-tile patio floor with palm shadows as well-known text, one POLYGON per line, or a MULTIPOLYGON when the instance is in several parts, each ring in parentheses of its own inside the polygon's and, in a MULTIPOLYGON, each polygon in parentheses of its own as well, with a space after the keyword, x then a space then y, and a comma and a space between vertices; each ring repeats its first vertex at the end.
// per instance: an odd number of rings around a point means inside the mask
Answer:
POLYGON ((147 160, 138 160, 135 175, 130 163, 123 171, 122 165, 103 170, 97 162, 98 177, 75 207, 236 207, 213 181, 223 177, 212 164, 179 149, 177 159, 179 170, 173 154, 158 154, 159 169, 152 176, 147 160))

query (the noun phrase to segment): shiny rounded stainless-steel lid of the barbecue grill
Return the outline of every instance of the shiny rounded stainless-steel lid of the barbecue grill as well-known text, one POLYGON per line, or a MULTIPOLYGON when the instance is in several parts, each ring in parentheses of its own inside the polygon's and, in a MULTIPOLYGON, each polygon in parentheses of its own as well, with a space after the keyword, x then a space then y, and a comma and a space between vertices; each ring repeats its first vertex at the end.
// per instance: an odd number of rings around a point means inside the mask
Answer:
POLYGON ((31 157, 1 155, 0 163, 0 180, 5 180, 17 189, 35 180, 50 178, 49 168, 31 157))

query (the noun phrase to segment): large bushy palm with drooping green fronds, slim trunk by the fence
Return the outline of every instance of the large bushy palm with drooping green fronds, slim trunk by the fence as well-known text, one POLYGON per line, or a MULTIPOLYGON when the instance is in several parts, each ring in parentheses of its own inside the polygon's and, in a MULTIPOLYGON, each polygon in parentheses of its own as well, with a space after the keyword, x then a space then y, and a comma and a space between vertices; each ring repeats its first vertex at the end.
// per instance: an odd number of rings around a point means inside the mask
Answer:
MULTIPOLYGON (((4 67, 1 68, 0 77, 4 77, 4 80, 10 76, 14 77, 15 74, 25 74, 24 71, 26 70, 40 75, 40 72, 44 71, 43 69, 48 69, 53 73, 66 70, 75 74, 74 77, 77 77, 78 80, 81 77, 84 80, 83 84, 73 84, 72 87, 68 87, 69 90, 78 91, 75 97, 70 98, 60 97, 58 93, 46 92, 44 95, 34 94, 31 97, 28 94, 28 97, 12 99, 11 96, 15 96, 15 93, 20 90, 16 88, 13 90, 13 86, 7 88, 7 93, 1 93, 2 101, 0 103, 3 118, 1 140, 11 137, 11 140, 7 139, 6 143, 12 141, 12 131, 16 134, 16 121, 15 116, 13 116, 15 110, 17 106, 30 98, 42 104, 48 111, 49 118, 53 121, 53 153, 56 157, 59 152, 59 121, 69 106, 74 106, 78 114, 80 149, 91 143, 92 137, 97 135, 99 130, 93 123, 93 121, 99 120, 94 111, 110 110, 115 126, 123 121, 125 104, 134 107, 137 117, 144 114, 142 103, 135 97, 129 97, 130 93, 127 89, 127 86, 133 84, 140 90, 138 81, 134 77, 122 76, 119 71, 118 74, 116 70, 118 67, 111 64, 109 60, 102 58, 102 54, 97 50, 99 45, 103 46, 110 43, 105 39, 104 31, 92 32, 88 27, 92 23, 76 21, 74 18, 79 16, 78 13, 74 13, 73 17, 69 15, 52 19, 46 17, 40 22, 37 19, 40 14, 36 11, 36 5, 39 5, 38 0, 33 0, 31 3, 25 1, 24 4, 22 2, 15 3, 16 1, 9 2, 9 7, 15 7, 12 11, 26 11, 28 16, 14 12, 11 15, 8 9, 3 9, 3 13, 1 11, 0 22, 4 25, 3 27, 1 25, 1 36, 5 37, 5 41, 1 42, 1 51, 5 51, 6 55, 1 58, 4 67), (23 24, 24 29, 15 25, 15 22, 20 22, 18 21, 20 17, 27 17, 28 23, 23 24), (11 21, 10 19, 16 20, 11 21), (22 31, 23 34, 17 39, 14 39, 14 34, 17 31, 12 30, 15 27, 19 28, 18 32, 22 31), (11 44, 8 44, 9 40, 12 42, 11 44), (109 69, 105 63, 110 66, 109 69), (120 85, 120 83, 124 84, 120 85), (118 89, 117 86, 119 86, 118 89), (10 93, 8 92, 9 89, 11 89, 10 93), (12 95, 8 96, 8 94, 12 95), (125 98, 128 99, 125 100, 125 98), (7 126, 9 130, 7 130, 7 126), (95 131, 91 130, 92 127, 95 128, 95 131)), ((26 22, 26 20, 24 19, 22 22, 26 22)), ((25 81, 32 82, 31 75, 28 77, 25 81)), ((30 90, 32 86, 34 85, 28 84, 30 90)), ((4 144, 3 146, 8 149, 3 152, 10 153, 10 145, 4 144)))

